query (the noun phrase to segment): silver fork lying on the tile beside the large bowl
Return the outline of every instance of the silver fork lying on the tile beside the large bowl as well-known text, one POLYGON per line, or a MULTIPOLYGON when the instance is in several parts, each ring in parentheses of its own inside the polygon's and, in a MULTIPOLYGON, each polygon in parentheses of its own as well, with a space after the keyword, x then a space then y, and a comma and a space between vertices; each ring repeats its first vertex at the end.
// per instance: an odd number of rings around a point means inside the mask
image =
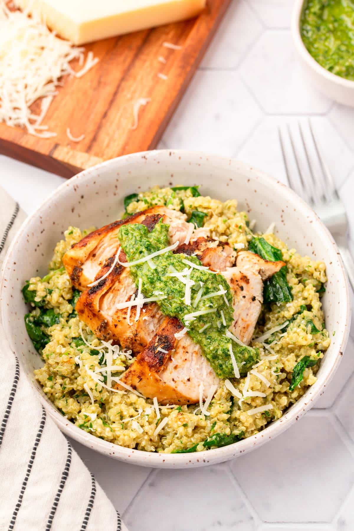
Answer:
POLYGON ((309 137, 309 142, 307 144, 303 125, 298 123, 298 128, 302 153, 296 147, 295 138, 290 130, 289 124, 287 124, 288 144, 291 146, 290 149, 296 162, 296 172, 291 171, 289 155, 286 155, 286 135, 282 133, 280 127, 278 128, 281 152, 289 186, 311 205, 323 224, 330 230, 339 247, 351 287, 354 290, 354 261, 347 246, 348 217, 346 209, 336 191, 332 175, 321 156, 310 120, 308 120, 307 136, 309 137), (311 152, 313 156, 310 155, 311 152), (317 168, 319 170, 315 168, 314 158, 317 159, 317 168))

